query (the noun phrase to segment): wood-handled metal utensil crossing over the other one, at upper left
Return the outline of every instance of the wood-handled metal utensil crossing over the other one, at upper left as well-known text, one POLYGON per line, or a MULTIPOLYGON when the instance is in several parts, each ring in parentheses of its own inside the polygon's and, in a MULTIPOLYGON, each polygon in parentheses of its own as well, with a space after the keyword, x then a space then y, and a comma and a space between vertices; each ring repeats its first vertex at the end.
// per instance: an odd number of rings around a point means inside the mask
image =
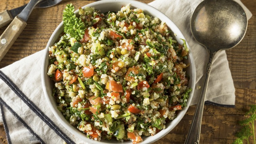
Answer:
POLYGON ((52 6, 59 3, 61 0, 30 0, 27 6, 17 15, 10 25, 6 28, 3 34, 0 36, 0 61, 3 59, 4 55, 10 49, 14 41, 19 37, 25 26, 27 25, 27 20, 32 12, 33 8, 39 4, 42 6, 52 6), (57 2, 57 3, 54 3, 57 2), (51 5, 52 4, 52 5, 51 5))

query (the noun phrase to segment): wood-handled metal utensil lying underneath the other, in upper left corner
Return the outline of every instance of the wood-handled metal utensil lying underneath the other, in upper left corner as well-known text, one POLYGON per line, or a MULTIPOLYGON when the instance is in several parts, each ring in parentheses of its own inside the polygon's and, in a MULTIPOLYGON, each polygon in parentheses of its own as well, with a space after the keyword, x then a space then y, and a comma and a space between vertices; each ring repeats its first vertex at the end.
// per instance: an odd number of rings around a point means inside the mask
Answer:
MULTIPOLYGON (((62 0, 44 0, 39 2, 34 8, 46 8, 46 7, 51 7, 62 0)), ((4 10, 0 12, 0 28, 7 25, 9 22, 13 20, 15 16, 17 16, 21 11, 27 6, 27 4, 11 9, 11 10, 4 10)))

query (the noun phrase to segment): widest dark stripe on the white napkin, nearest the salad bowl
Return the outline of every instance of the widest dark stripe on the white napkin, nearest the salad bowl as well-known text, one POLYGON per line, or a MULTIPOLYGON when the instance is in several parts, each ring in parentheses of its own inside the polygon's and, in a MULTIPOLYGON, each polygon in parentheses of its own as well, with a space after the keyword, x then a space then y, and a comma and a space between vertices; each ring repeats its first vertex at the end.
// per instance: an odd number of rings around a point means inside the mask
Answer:
MULTIPOLYGON (((75 144, 65 133, 63 133, 60 128, 48 117, 46 116, 18 87, 15 85, 8 76, 6 76, 2 71, 0 71, 0 78, 12 89, 12 91, 22 99, 22 101, 28 105, 28 107, 40 117, 54 132, 59 135, 66 143, 75 144)), ((4 102, 2 99, 0 101, 4 102)), ((5 102, 4 102, 5 103, 5 102)), ((5 103, 5 107, 7 104, 5 103)), ((7 107, 6 107, 7 108, 7 107)), ((13 111, 14 112, 14 111, 13 111)))

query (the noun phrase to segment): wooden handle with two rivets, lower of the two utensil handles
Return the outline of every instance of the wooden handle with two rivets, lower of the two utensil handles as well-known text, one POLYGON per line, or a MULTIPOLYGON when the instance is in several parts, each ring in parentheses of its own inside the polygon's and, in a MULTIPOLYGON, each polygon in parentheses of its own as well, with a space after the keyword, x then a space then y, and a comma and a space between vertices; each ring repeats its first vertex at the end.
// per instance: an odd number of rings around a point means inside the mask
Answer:
POLYGON ((10 49, 14 41, 19 37, 26 25, 27 23, 25 21, 16 16, 0 36, 0 61, 10 49))

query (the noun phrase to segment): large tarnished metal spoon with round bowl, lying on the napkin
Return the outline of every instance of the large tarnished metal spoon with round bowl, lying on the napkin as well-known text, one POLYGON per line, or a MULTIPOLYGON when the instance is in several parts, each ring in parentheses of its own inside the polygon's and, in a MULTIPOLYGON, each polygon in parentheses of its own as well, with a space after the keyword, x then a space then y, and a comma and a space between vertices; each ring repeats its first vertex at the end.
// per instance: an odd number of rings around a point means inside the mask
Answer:
POLYGON ((244 9, 232 0, 204 0, 196 7, 190 26, 194 38, 208 53, 201 94, 185 141, 185 144, 198 144, 213 58, 216 52, 232 48, 243 39, 247 29, 247 16, 244 9))

